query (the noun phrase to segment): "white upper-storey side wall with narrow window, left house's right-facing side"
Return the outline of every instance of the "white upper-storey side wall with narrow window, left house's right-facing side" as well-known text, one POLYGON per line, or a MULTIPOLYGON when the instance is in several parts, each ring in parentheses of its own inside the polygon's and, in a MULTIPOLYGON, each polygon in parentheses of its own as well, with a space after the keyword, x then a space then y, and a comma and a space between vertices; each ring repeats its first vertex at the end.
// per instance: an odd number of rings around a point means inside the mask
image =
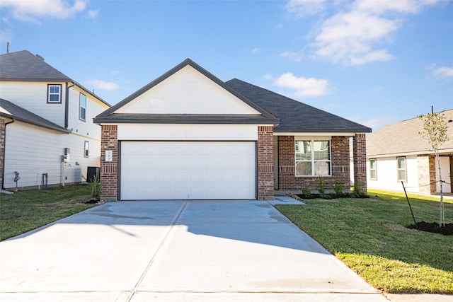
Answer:
POLYGON ((68 129, 74 134, 79 134, 84 137, 101 139, 101 126, 93 123, 93 117, 96 117, 108 106, 93 98, 92 95, 82 91, 74 86, 69 88, 69 118, 68 129), (86 95, 86 119, 80 120, 80 93, 86 95))

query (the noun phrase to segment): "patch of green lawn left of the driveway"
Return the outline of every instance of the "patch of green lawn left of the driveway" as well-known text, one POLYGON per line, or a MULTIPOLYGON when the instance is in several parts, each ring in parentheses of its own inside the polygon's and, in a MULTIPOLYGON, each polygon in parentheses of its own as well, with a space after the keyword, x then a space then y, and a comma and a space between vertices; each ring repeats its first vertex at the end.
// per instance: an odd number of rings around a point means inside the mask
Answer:
POLYGON ((89 185, 0 194, 0 240, 91 208, 93 204, 84 204, 90 197, 89 185))

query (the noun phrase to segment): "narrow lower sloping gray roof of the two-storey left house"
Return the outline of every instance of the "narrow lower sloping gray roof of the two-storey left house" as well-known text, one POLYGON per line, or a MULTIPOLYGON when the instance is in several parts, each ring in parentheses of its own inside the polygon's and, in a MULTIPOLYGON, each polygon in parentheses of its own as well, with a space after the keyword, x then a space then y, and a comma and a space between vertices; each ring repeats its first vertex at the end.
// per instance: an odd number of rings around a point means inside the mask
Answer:
POLYGON ((57 130, 59 132, 69 133, 67 129, 59 127, 59 125, 46 120, 43 117, 35 115, 33 112, 25 110, 18 105, 14 105, 8 100, 0 98, 0 116, 10 117, 16 120, 21 120, 22 122, 28 122, 30 124, 35 124, 40 127, 45 127, 47 129, 57 130))

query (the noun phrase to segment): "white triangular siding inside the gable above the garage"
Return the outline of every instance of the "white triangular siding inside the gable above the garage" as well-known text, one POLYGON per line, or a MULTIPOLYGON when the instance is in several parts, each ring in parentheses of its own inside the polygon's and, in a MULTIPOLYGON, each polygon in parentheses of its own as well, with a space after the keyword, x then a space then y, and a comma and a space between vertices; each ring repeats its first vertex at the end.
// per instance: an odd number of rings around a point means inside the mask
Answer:
POLYGON ((115 113, 260 114, 191 66, 180 69, 115 113))

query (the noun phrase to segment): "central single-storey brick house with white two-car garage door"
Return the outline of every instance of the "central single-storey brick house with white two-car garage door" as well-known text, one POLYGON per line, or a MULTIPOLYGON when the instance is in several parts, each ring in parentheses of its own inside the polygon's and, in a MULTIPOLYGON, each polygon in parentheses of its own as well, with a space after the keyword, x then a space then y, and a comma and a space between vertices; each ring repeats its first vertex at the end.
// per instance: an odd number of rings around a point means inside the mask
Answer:
POLYGON ((274 190, 366 191, 368 127, 237 79, 220 81, 190 59, 94 122, 102 126, 104 199, 272 199, 274 190))

